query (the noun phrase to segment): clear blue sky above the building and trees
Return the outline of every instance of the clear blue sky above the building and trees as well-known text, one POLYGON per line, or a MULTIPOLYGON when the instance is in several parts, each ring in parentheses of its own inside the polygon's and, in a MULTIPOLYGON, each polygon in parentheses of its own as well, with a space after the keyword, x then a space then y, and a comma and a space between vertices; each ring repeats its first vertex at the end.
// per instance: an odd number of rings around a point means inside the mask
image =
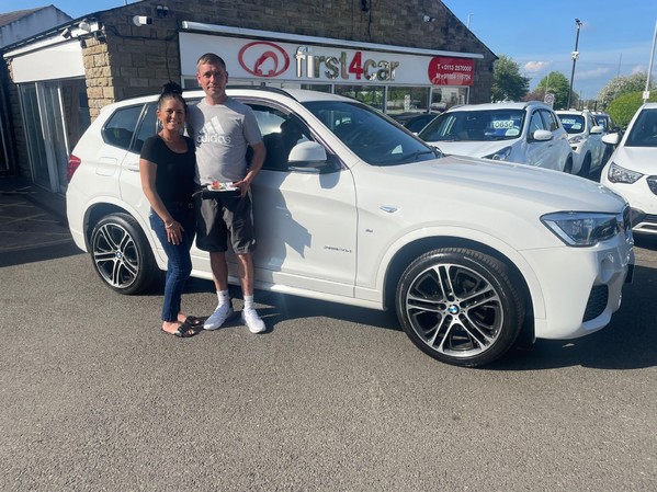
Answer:
MULTIPOLYGON (((354 0, 355 1, 355 0, 354 0)), ((374 5, 376 1, 373 0, 374 5)), ((399 0, 403 2, 404 0, 399 0)), ((72 18, 133 3, 126 0, 0 0, 0 12, 53 4, 72 18)), ((570 79, 577 30, 575 90, 594 99, 612 78, 647 71, 657 22, 655 0, 443 0, 496 55, 516 60, 530 89, 550 71, 570 79)), ((657 56, 656 56, 657 58, 657 56)), ((657 60, 653 76, 657 78, 657 60)))

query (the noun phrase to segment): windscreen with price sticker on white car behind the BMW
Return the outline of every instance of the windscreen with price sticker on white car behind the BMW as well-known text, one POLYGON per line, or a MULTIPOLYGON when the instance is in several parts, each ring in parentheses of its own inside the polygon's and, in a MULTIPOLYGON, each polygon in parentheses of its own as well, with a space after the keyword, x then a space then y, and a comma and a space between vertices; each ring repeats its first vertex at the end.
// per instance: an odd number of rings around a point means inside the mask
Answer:
POLYGON ((522 134, 524 111, 450 111, 420 131, 426 141, 512 140, 522 134))

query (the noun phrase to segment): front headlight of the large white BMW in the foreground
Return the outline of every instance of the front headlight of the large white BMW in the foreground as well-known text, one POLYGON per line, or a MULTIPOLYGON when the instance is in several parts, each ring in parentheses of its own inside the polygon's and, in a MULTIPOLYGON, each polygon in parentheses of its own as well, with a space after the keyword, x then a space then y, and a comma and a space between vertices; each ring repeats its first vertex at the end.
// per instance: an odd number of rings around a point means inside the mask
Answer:
POLYGON ((541 221, 571 247, 592 247, 613 238, 619 231, 619 219, 614 214, 558 211, 544 215, 541 221))

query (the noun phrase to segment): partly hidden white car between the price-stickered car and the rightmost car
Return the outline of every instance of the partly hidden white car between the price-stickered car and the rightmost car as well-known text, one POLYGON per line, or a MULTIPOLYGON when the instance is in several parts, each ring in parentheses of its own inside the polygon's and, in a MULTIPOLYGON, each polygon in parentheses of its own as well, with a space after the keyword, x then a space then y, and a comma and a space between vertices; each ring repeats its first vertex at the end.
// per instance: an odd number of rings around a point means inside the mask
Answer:
POLYGON ((557 111, 556 115, 562 121, 575 152, 573 174, 588 178, 605 163, 607 146, 602 142, 604 127, 598 125, 588 111, 557 111))

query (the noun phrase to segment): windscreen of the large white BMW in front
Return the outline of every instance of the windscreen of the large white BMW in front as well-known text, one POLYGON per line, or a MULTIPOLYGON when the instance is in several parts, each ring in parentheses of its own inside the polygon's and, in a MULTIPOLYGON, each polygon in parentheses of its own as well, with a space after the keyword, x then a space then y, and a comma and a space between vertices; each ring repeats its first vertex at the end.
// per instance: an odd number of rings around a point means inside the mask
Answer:
POLYGON ((304 104, 349 149, 373 165, 398 165, 440 157, 376 110, 358 102, 315 101, 304 104))

